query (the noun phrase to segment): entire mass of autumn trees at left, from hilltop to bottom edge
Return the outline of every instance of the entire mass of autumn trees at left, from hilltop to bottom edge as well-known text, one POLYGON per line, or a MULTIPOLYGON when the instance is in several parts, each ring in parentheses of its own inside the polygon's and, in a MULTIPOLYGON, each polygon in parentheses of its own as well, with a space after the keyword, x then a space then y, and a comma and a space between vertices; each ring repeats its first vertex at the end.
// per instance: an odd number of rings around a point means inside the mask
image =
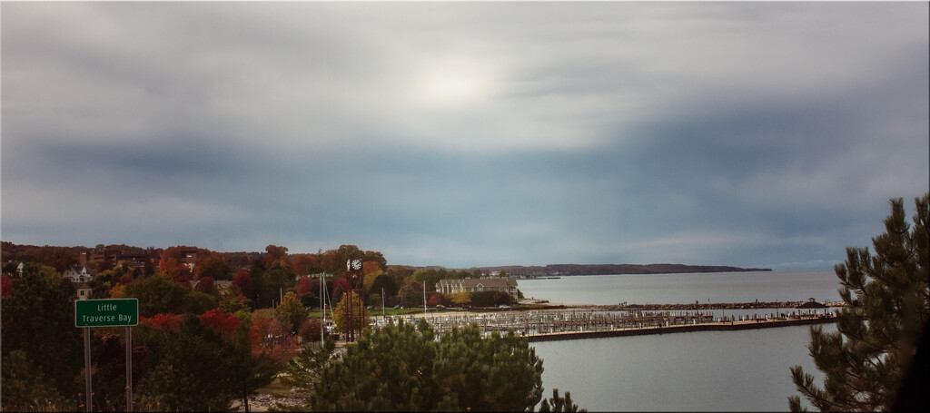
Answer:
MULTIPOLYGON (((134 407, 166 411, 228 410, 234 400, 245 402, 269 384, 299 352, 299 342, 319 340, 326 331, 306 309, 320 303, 320 278, 326 279, 328 305, 338 307, 351 296, 343 276, 348 260, 363 260, 365 300, 372 305, 419 307, 424 296, 432 306, 512 302, 506 293, 435 293, 441 279, 480 273, 388 266, 380 252, 357 246, 289 254, 271 245, 264 253, 238 257, 193 246, 147 248, 143 251, 158 253, 156 267, 98 266, 105 269, 86 285, 73 283, 54 265, 77 260, 66 256, 85 247, 3 247, 0 410, 6 411, 84 409, 83 345, 81 329, 74 326, 78 287, 90 286, 91 299, 139 300, 134 407)), ((341 329, 337 320, 336 332, 341 329)), ((97 327, 92 333, 94 408, 125 410, 125 329, 97 327)))

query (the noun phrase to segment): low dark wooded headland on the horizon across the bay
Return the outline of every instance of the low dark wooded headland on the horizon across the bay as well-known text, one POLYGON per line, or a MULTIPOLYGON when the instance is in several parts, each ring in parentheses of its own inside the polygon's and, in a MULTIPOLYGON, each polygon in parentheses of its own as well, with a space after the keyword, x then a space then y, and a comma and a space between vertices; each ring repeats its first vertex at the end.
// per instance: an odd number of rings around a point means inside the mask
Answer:
POLYGON ((545 267, 504 265, 478 267, 483 273, 504 271, 510 275, 553 276, 553 275, 604 275, 615 273, 735 273, 748 271, 772 271, 770 268, 740 268, 725 265, 684 264, 550 264, 545 267))

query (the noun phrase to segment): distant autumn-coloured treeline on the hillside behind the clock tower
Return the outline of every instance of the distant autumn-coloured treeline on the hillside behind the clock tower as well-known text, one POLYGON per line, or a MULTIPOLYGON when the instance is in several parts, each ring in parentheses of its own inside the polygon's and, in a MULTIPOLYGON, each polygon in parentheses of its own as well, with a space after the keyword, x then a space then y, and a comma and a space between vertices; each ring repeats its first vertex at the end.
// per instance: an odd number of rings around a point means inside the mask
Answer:
MULTIPOLYGON (((164 275, 180 286, 196 290, 222 288, 230 300, 241 300, 249 309, 270 308, 279 304, 288 293, 294 293, 305 307, 322 305, 321 274, 326 279, 325 296, 335 305, 349 289, 343 273, 348 260, 362 260, 365 273, 365 303, 367 305, 423 305, 424 294, 430 305, 468 304, 479 306, 511 303, 515 297, 461 297, 453 302, 449 296, 433 297, 436 284, 442 279, 481 277, 480 270, 448 270, 443 267, 410 267, 388 265, 379 251, 362 250, 358 246, 343 245, 315 253, 291 253, 286 246, 269 245, 262 252, 218 252, 197 246, 170 246, 167 248, 141 248, 126 245, 86 246, 22 246, 4 242, 2 246, 3 273, 16 272, 18 263, 30 262, 46 265, 58 273, 78 264, 86 254, 86 267, 94 273, 89 282, 91 299, 122 297, 124 290, 138 280, 154 274, 164 275), (120 260, 126 255, 135 256, 135 264, 120 260), (90 260, 91 257, 104 257, 90 260), (138 263, 144 260, 144 265, 138 263), (120 263, 122 262, 122 263, 120 263), (215 286, 216 285, 216 286, 215 286), (425 287, 425 291, 424 291, 425 287)), ((142 284, 144 285, 144 283, 142 284)), ((140 286, 130 288, 146 294, 140 286)))

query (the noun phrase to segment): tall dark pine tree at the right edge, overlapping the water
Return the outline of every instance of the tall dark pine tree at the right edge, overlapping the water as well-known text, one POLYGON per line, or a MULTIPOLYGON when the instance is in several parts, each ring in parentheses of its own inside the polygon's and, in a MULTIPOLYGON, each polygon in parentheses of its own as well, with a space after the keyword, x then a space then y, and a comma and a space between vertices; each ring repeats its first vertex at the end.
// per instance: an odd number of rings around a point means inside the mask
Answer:
MULTIPOLYGON (((885 233, 872 238, 869 248, 846 248, 846 261, 836 266, 844 307, 837 330, 810 330, 808 345, 824 387, 801 366, 791 367, 798 392, 815 407, 826 410, 890 410, 902 374, 915 353, 927 324, 928 263, 930 263, 930 193, 916 198, 914 226, 905 220, 904 202, 891 200, 885 233), (910 230, 910 231, 909 231, 910 230), (855 292, 855 296, 853 293, 855 292)), ((789 397, 792 411, 802 410, 799 396, 789 397)))

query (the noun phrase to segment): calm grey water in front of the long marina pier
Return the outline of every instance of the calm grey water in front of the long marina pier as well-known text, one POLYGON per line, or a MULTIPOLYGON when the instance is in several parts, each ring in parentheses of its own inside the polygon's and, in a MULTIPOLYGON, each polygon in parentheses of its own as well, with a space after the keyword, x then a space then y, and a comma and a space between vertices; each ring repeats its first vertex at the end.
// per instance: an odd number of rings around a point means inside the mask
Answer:
MULTIPOLYGON (((827 331, 834 325, 823 325, 827 331)), ((822 376, 808 326, 533 343, 544 395, 589 411, 787 411, 790 366, 822 376)), ((802 398, 803 399, 803 398, 802 398)), ((804 400, 803 400, 804 401, 804 400)), ((804 401, 804 406, 806 401, 804 401)))

